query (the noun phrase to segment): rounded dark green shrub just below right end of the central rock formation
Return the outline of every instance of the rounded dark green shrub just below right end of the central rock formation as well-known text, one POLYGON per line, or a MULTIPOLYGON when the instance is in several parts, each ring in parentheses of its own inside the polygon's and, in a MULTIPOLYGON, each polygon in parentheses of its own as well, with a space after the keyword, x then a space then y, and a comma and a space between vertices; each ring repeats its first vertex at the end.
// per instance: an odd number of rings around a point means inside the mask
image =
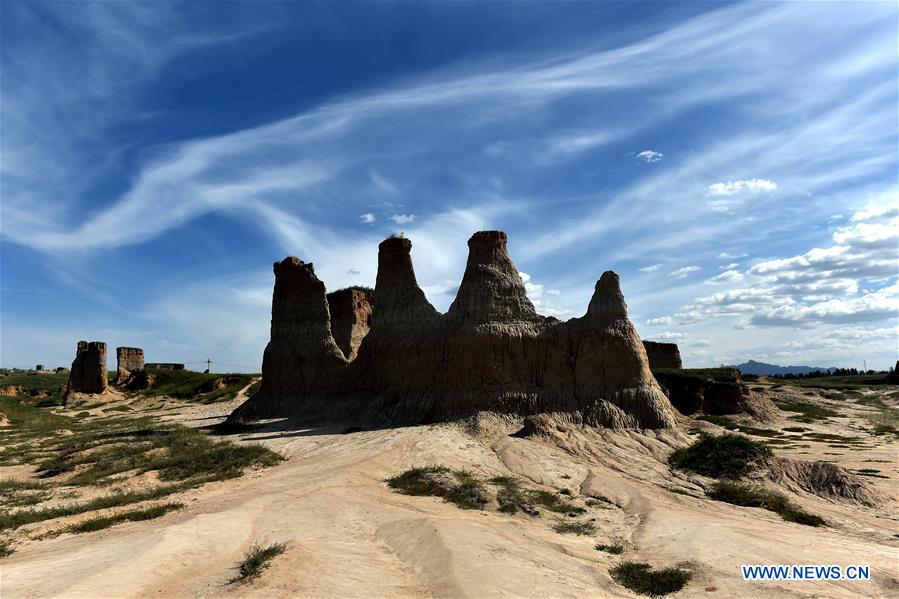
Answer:
POLYGON ((742 435, 701 434, 689 447, 676 449, 668 463, 712 478, 738 479, 771 455, 769 448, 742 435))

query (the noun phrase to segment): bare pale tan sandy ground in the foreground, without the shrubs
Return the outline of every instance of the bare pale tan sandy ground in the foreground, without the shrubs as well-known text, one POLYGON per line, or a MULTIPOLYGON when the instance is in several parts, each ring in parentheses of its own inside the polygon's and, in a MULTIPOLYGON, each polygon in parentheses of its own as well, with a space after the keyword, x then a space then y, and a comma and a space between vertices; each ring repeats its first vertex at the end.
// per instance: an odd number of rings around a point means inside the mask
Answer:
MULTIPOLYGON (((166 413, 207 425, 234 403, 166 413)), ((857 424, 850 416, 827 430, 850 434, 857 424)), ((177 499, 187 507, 159 520, 26 543, 0 563, 0 597, 635 597, 608 573, 623 559, 689 562, 694 578, 677 597, 899 596, 895 441, 779 452, 802 459, 842 452, 830 459, 853 468, 888 461, 874 465, 889 478, 870 479, 889 498, 880 508, 793 495, 830 524, 811 528, 702 498, 688 476, 664 463, 676 434, 568 430, 550 441, 492 430, 439 425, 341 434, 274 425, 232 437, 288 459, 184 493, 177 499), (592 537, 561 535, 548 515, 461 510, 391 492, 383 482, 437 463, 611 503, 591 510, 598 527, 592 537), (594 549, 610 540, 625 545, 624 555, 594 549), (228 585, 257 541, 289 546, 256 581, 228 585), (868 564, 872 580, 743 581, 740 565, 756 563, 868 564)))

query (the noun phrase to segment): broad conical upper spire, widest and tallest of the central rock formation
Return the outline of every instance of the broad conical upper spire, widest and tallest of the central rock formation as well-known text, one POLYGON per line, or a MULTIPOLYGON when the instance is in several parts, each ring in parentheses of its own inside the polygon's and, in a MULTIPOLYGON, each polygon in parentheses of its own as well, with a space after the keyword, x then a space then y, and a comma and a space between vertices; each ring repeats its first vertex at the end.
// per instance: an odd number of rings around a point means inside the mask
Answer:
POLYGON ((468 264, 447 316, 473 323, 540 318, 506 250, 504 232, 479 231, 468 240, 468 264))

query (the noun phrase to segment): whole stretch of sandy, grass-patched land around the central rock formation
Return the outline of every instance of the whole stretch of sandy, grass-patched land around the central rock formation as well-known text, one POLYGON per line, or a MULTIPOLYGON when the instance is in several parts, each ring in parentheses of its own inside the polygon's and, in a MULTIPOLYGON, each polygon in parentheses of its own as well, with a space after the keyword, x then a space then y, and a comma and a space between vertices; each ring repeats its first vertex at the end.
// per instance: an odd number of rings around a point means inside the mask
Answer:
POLYGON ((682 585, 678 597, 895 596, 899 438, 882 427, 895 422, 896 388, 759 385, 778 406, 765 422, 685 418, 683 432, 642 433, 560 424, 530 437, 489 415, 349 433, 271 422, 216 436, 207 431, 245 392, 67 408, 3 396, 0 537, 11 553, 0 595, 634 597, 628 584, 682 585), (834 462, 883 501, 740 472, 752 490, 722 487, 669 463, 701 433, 740 434, 749 460, 834 462), (869 564, 872 580, 744 582, 740 565, 756 563, 869 564))

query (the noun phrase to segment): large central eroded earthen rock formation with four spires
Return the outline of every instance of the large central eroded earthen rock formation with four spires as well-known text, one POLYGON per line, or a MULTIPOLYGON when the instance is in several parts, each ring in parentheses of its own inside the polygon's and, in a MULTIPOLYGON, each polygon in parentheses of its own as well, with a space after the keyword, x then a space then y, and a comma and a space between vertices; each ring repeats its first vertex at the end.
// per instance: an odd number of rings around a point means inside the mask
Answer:
MULTIPOLYGON (((334 318, 339 308, 312 264, 276 262, 262 387, 230 420, 380 424, 478 412, 566 413, 591 425, 673 427, 673 409, 627 318, 618 275, 602 275, 584 316, 547 318, 528 299, 506 241, 501 231, 471 237, 446 314, 418 286, 412 242, 382 242, 370 327, 355 348, 352 334, 345 343, 345 320, 334 318)), ((359 332, 362 315, 368 317, 354 312, 359 332)))

